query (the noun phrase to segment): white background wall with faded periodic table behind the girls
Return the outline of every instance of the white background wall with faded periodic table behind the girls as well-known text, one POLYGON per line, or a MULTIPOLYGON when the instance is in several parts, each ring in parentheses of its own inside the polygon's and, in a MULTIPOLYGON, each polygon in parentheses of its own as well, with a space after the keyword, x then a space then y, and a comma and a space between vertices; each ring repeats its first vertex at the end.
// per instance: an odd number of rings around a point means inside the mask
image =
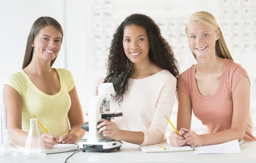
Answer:
MULTIPOLYGON (((64 29, 62 49, 53 67, 66 68, 73 73, 85 115, 96 80, 105 76, 112 35, 125 17, 132 13, 152 17, 173 47, 184 71, 195 64, 183 37, 184 23, 190 14, 200 10, 215 15, 233 57, 251 77, 251 109, 256 126, 255 0, 0 0, 0 103, 3 103, 4 78, 20 71, 29 30, 40 16, 54 17, 64 29)), ((171 116, 175 126, 176 116, 177 103, 171 116)), ((204 126, 193 117, 192 129, 202 132, 204 126)))

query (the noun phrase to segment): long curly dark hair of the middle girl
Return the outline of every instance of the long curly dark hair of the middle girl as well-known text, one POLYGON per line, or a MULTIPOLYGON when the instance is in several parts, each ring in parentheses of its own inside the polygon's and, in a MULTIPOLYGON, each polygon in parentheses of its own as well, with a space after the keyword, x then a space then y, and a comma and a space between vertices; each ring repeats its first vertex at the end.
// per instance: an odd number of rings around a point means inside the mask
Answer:
MULTIPOLYGON (((179 66, 172 52, 172 47, 162 37, 157 24, 150 17, 144 14, 132 14, 116 29, 111 40, 110 54, 108 56, 107 74, 113 72, 114 77, 118 77, 122 71, 127 72, 126 80, 123 86, 116 92, 115 101, 122 102, 125 92, 128 90, 128 80, 131 74, 131 61, 125 55, 123 48, 123 34, 126 26, 136 25, 146 29, 149 39, 149 59, 162 69, 166 69, 172 73, 176 79, 179 76, 179 66)), ((120 104, 119 104, 120 105, 120 104)))

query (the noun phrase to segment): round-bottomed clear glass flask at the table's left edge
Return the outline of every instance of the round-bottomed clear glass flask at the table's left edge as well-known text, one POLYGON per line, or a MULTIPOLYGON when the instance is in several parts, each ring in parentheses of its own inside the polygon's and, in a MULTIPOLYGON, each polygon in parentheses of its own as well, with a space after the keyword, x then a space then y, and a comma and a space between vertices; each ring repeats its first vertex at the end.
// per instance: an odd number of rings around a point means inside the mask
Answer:
POLYGON ((6 129, 6 142, 0 147, 0 156, 4 160, 12 160, 15 159, 18 154, 18 147, 12 143, 12 129, 6 129))

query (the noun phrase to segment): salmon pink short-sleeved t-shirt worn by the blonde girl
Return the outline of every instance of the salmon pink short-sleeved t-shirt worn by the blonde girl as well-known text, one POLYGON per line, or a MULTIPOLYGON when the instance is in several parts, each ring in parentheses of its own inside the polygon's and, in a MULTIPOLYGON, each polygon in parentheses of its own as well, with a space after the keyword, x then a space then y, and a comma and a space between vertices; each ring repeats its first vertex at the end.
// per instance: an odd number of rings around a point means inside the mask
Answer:
MULTIPOLYGON (((241 77, 249 75, 246 70, 232 60, 224 59, 220 84, 215 94, 209 97, 202 96, 195 79, 196 65, 180 74, 177 87, 191 98, 192 110, 203 125, 207 126, 207 134, 221 132, 231 128, 233 116, 232 94, 241 77)), ((252 134, 252 127, 247 121, 244 135, 245 141, 256 141, 252 134)))

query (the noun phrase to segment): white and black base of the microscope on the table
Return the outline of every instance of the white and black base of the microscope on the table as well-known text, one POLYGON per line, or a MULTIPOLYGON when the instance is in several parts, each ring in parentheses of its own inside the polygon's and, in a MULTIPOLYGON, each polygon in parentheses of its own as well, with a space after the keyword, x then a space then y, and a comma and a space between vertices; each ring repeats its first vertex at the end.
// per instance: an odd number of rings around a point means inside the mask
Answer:
POLYGON ((84 149, 85 151, 104 151, 108 153, 109 151, 120 149, 122 147, 122 141, 116 141, 113 139, 101 139, 98 142, 88 143, 87 139, 79 140, 79 147, 82 149, 86 146, 94 145, 95 148, 84 149))

